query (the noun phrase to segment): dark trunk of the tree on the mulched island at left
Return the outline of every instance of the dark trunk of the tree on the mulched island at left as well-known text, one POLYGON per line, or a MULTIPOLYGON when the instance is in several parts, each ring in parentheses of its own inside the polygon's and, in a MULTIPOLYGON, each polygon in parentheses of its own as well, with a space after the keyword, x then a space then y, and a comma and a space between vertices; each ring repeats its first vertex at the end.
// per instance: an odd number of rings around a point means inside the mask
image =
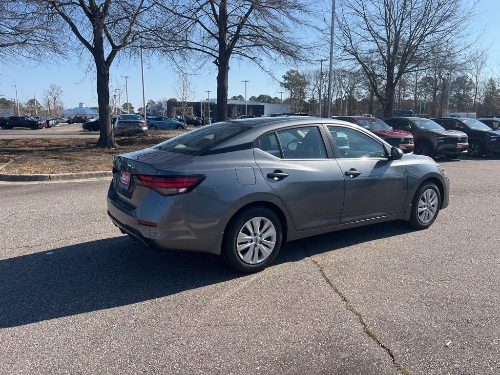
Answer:
POLYGON ((97 147, 115 148, 117 146, 113 128, 111 125, 111 111, 109 108, 109 67, 104 62, 104 51, 102 51, 102 60, 95 59, 97 68, 97 103, 99 105, 99 124, 100 135, 97 141, 97 147))

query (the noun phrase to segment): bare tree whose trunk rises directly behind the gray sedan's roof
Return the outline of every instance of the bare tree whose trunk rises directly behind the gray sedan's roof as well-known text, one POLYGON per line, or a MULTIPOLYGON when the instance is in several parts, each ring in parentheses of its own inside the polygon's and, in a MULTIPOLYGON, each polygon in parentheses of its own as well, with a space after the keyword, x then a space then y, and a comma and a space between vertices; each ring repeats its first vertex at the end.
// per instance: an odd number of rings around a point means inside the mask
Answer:
MULTIPOLYGON (((307 21, 311 14, 307 0, 171 0, 159 4, 164 13, 178 19, 175 45, 212 59, 217 67, 219 120, 227 117, 232 57, 250 60, 268 71, 264 59, 296 61, 310 44, 303 36, 303 29, 311 25, 307 21)), ((170 45, 165 50, 172 50, 170 45)))

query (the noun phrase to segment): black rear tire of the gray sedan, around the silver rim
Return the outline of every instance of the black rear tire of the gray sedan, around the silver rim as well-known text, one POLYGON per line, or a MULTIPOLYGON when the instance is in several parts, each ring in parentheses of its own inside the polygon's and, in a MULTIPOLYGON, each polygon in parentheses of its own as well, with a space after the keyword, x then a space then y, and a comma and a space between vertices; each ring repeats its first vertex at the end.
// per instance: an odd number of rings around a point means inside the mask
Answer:
MULTIPOLYGON (((253 233, 248 233, 248 234, 253 235, 253 233)), ((260 238, 259 241, 262 241, 262 239, 264 238, 260 238)), ((235 217, 233 217, 233 219, 227 225, 224 235, 224 241, 222 243, 221 256, 227 265, 229 265, 231 268, 239 272, 245 272, 245 273, 258 272, 264 269, 274 260, 281 247, 281 240, 282 240, 282 226, 278 216, 272 210, 266 207, 249 207, 239 212, 235 217), (262 251, 257 247, 257 256, 258 258, 262 256, 263 260, 258 261, 257 259, 258 262, 250 264, 242 259, 244 255, 243 254, 240 255, 240 253, 236 249, 236 240, 240 230, 247 231, 247 229, 243 229, 243 225, 248 220, 255 217, 262 217, 266 220, 269 220, 272 223, 272 225, 274 225, 275 241, 274 241, 274 247, 272 248, 270 254, 267 255, 267 257, 264 257, 262 251)), ((254 242, 252 243, 253 246, 258 246, 255 245, 254 242)), ((251 249, 251 246, 252 245, 250 245, 250 248, 247 251, 252 251, 252 253, 254 253, 254 250, 251 249)))

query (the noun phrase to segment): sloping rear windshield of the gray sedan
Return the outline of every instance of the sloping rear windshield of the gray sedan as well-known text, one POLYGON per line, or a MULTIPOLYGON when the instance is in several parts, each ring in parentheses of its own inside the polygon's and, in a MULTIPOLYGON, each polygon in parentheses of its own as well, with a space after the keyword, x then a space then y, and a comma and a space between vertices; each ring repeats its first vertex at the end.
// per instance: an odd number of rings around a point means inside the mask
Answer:
POLYGON ((197 156, 250 128, 250 126, 231 122, 217 122, 177 135, 176 137, 156 144, 152 148, 197 156))

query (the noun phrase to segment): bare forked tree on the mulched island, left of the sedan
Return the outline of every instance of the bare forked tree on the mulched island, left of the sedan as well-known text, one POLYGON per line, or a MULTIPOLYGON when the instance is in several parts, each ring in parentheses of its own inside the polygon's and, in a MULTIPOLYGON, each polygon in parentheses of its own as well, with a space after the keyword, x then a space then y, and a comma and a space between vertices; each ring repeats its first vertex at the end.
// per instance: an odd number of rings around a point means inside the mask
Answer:
MULTIPOLYGON (((46 3, 45 0, 35 1, 46 3)), ((58 34, 68 31, 68 43, 76 39, 92 56, 100 118, 98 147, 117 145, 109 107, 109 70, 116 55, 125 48, 130 48, 130 55, 132 47, 147 41, 155 28, 162 28, 163 38, 167 37, 169 20, 160 21, 152 7, 150 0, 48 0, 47 16, 59 22, 58 34), (144 39, 139 36, 141 34, 144 39)))

